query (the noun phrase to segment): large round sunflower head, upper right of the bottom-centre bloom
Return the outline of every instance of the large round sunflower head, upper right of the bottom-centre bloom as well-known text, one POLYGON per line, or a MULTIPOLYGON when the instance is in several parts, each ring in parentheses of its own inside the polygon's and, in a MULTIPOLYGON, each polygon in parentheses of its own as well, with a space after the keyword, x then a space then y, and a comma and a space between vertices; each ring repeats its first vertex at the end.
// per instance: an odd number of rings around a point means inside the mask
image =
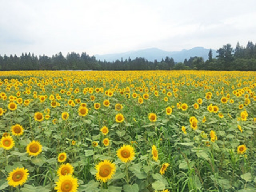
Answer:
POLYGON ((117 150, 116 155, 122 162, 130 162, 135 156, 134 148, 131 145, 123 145, 117 150))

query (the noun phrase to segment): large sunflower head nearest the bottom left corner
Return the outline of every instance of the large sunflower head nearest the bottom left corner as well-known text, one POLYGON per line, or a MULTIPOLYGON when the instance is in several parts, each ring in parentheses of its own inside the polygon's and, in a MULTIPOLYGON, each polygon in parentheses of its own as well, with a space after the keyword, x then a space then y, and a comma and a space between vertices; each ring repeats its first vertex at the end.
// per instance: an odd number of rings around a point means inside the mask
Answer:
POLYGON ((27 178, 29 176, 28 172, 29 171, 24 168, 17 167, 16 169, 13 169, 7 177, 8 184, 13 187, 23 185, 27 181, 27 178))

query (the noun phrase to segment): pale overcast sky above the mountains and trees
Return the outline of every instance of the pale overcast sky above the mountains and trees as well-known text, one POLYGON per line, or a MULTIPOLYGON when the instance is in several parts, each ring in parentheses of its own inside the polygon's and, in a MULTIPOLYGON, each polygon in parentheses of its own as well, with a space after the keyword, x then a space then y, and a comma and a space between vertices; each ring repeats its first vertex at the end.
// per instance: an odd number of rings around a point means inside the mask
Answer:
POLYGON ((255 0, 0 0, 0 55, 256 43, 255 0))

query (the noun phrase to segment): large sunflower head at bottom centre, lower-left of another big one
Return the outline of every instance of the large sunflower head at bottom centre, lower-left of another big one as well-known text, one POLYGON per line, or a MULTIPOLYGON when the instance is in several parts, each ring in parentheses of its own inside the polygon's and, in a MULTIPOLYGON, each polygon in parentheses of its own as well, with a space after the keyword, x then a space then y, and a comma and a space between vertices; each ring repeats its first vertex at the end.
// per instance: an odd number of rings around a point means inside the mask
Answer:
POLYGON ((113 177, 116 171, 116 165, 109 160, 104 160, 99 162, 95 166, 95 169, 97 170, 96 179, 105 183, 113 177))

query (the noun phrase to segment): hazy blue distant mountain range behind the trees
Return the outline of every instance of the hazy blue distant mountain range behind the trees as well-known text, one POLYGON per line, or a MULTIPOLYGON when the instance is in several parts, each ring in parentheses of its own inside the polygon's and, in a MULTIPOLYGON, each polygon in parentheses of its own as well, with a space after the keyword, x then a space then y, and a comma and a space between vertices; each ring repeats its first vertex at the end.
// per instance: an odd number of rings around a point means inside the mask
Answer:
MULTIPOLYGON (((97 60, 100 61, 116 61, 123 59, 135 59, 136 57, 143 57, 148 61, 154 61, 155 59, 160 62, 162 59, 165 59, 166 56, 172 57, 175 62, 184 62, 185 59, 189 59, 190 57, 203 57, 204 61, 208 59, 208 53, 210 49, 205 49, 204 47, 194 47, 192 49, 183 49, 182 51, 164 51, 158 48, 149 48, 149 49, 141 49, 136 51, 128 51, 124 53, 113 53, 106 55, 95 55, 97 60)), ((216 57, 216 50, 212 49, 212 57, 216 57)))

